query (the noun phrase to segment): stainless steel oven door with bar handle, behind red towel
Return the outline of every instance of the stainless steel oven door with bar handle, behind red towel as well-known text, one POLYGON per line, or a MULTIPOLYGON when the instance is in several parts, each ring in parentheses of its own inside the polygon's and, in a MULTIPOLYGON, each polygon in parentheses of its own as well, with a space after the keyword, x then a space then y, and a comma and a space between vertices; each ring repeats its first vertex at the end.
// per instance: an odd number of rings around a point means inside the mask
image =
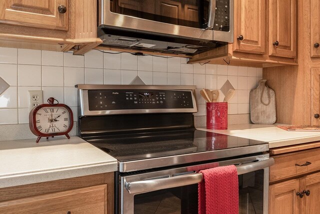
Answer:
POLYGON ((239 213, 268 213, 269 166, 258 155, 136 175, 119 176, 119 213, 198 213, 198 170, 234 164, 239 183, 239 213))

